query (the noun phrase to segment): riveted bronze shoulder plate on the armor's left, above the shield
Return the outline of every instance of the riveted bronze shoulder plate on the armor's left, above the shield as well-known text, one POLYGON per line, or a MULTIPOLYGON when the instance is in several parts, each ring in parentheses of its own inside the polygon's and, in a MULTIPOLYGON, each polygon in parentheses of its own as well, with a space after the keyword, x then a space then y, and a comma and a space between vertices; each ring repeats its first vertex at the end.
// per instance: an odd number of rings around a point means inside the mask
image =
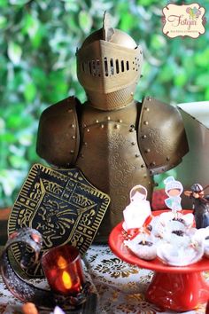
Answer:
POLYGON ((80 133, 77 98, 69 97, 43 111, 39 122, 36 152, 58 167, 69 167, 76 161, 80 133))

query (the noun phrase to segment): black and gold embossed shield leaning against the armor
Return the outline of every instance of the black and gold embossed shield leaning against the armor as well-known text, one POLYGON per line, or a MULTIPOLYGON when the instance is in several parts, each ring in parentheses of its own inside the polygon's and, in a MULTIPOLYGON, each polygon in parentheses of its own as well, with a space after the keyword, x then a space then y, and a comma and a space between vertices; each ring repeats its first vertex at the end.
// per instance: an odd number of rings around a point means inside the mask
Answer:
MULTIPOLYGON (((92 243, 109 203, 109 196, 90 184, 79 169, 35 164, 12 208, 8 232, 31 227, 42 233, 43 251, 69 243, 82 255, 92 243)), ((22 252, 23 247, 12 247, 18 263, 22 252)), ((30 255, 26 248, 24 258, 30 255)), ((28 277, 43 275, 39 264, 22 271, 28 277)))

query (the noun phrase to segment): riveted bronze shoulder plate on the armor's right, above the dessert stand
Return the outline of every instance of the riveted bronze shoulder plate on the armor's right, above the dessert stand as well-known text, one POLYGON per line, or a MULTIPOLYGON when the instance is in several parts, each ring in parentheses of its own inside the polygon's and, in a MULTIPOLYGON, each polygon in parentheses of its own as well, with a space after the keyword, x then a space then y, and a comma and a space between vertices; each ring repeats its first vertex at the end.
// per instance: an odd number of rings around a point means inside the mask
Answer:
POLYGON ((178 109, 151 97, 143 98, 138 142, 151 175, 179 164, 189 148, 178 109))

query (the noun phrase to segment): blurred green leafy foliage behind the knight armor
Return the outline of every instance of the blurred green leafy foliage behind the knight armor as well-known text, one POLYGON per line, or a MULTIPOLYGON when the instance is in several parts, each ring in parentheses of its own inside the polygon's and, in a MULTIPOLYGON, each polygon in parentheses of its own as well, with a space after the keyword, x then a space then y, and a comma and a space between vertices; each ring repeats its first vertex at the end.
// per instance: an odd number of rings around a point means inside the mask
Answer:
POLYGON ((198 1, 205 6, 207 23, 196 40, 163 35, 167 3, 0 0, 0 207, 12 205, 28 169, 40 161, 35 141, 43 109, 69 95, 85 100, 76 78, 75 51, 102 27, 105 10, 112 14, 113 27, 143 46, 136 99, 151 95, 173 104, 209 99, 209 2, 198 1))

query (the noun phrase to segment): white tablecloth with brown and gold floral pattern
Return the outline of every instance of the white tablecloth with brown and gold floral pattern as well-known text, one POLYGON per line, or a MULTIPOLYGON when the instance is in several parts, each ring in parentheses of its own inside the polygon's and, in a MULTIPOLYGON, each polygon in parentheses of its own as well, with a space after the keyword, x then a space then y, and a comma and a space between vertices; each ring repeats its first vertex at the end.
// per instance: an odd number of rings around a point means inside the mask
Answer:
MULTIPOLYGON (((92 245, 86 254, 91 279, 99 294, 99 314, 157 314, 157 306, 146 302, 144 292, 151 282, 152 271, 122 262, 107 245, 92 245)), ((209 281, 209 272, 205 272, 209 281)), ((35 284, 42 284, 35 280, 35 284)), ((0 279, 0 314, 19 314, 21 302, 12 296, 0 279)), ((174 313, 166 311, 164 313, 174 313)), ((205 304, 184 314, 205 314, 205 304)), ((90 314, 90 313, 89 313, 90 314)))

